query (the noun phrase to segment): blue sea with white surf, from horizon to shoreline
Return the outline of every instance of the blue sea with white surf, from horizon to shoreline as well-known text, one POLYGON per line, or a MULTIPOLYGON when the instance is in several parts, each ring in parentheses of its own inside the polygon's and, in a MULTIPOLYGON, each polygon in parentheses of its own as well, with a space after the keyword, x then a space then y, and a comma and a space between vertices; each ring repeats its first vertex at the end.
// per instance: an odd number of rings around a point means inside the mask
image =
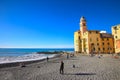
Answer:
POLYGON ((63 51, 73 53, 73 48, 0 48, 0 64, 34 61, 52 58, 57 54, 37 54, 37 52, 63 51))

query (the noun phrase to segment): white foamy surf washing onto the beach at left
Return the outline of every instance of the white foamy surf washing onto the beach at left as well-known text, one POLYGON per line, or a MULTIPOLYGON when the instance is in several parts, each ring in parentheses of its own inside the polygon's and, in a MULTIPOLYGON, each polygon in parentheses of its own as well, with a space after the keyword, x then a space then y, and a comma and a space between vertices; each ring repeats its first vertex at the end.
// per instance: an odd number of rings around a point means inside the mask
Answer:
POLYGON ((56 54, 37 54, 37 53, 32 53, 32 54, 27 54, 27 55, 23 55, 23 56, 0 57, 0 64, 41 60, 41 59, 45 59, 46 57, 52 58, 55 55, 56 54))

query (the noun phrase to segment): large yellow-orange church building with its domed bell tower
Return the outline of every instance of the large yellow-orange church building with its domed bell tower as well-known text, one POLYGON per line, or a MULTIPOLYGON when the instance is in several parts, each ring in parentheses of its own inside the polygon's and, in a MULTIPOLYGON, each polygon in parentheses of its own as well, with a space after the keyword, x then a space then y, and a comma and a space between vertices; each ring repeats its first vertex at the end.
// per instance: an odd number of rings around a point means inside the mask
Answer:
POLYGON ((114 53, 114 37, 105 31, 87 30, 86 19, 81 17, 80 30, 74 32, 76 53, 114 53))

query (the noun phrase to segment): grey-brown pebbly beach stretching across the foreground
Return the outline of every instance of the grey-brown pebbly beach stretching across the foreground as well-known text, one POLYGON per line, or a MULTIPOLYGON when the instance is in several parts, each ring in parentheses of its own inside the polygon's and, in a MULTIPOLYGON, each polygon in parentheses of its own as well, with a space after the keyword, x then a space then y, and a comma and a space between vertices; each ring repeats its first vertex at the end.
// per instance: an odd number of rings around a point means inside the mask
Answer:
POLYGON ((120 80, 120 59, 111 55, 101 58, 78 55, 67 59, 64 55, 22 68, 0 68, 0 80, 120 80), (59 73, 61 60, 64 62, 63 75, 59 73))

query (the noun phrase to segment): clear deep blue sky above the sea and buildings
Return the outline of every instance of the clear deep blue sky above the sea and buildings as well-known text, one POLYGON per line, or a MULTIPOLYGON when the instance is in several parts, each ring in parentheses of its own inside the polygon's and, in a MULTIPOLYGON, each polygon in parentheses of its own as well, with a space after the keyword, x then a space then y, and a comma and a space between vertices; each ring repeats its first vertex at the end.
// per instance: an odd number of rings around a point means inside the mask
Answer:
POLYGON ((120 0, 0 0, 1 48, 73 48, 80 17, 89 30, 120 24, 120 0))

